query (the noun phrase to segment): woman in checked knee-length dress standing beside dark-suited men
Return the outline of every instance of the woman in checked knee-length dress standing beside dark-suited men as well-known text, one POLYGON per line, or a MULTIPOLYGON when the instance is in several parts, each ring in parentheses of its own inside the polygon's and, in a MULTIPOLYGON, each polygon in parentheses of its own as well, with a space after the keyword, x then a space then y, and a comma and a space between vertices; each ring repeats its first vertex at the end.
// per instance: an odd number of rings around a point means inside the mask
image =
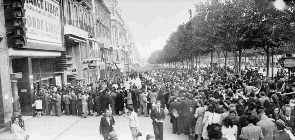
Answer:
POLYGON ((206 108, 204 107, 203 100, 198 100, 196 102, 196 105, 197 108, 195 111, 195 118, 197 119, 197 121, 195 126, 195 135, 198 136, 198 140, 201 140, 201 134, 203 132, 203 119, 206 112, 206 108))

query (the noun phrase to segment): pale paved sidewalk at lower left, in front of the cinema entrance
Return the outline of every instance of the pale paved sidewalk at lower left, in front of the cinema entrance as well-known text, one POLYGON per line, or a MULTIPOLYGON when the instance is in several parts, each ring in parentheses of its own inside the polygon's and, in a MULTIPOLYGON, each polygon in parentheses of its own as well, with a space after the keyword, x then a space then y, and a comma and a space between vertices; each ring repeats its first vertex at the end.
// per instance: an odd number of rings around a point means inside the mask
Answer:
MULTIPOLYGON (((58 135, 66 131, 74 123, 79 121, 81 117, 77 116, 42 116, 41 118, 30 118, 26 120, 25 131, 30 135, 29 139, 49 140, 55 139, 58 135)), ((14 135, 10 131, 0 135, 0 139, 14 139, 14 135)))

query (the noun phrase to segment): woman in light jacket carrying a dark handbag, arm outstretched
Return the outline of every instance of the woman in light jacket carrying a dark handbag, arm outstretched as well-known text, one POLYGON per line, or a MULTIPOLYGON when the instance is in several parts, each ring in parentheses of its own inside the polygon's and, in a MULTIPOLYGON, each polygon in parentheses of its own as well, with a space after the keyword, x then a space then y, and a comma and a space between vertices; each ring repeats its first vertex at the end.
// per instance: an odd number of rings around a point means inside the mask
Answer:
POLYGON ((133 140, 138 140, 138 136, 141 136, 141 133, 138 130, 139 121, 137 117, 137 113, 134 112, 134 109, 131 105, 127 106, 128 109, 128 116, 125 114, 122 114, 124 117, 129 118, 129 126, 132 133, 133 140))

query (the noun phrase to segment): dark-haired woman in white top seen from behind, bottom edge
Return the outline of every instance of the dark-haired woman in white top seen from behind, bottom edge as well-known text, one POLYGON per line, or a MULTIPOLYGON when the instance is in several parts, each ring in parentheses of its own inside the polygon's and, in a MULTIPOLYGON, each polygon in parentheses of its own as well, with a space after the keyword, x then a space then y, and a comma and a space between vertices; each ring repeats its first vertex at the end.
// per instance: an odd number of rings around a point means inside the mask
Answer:
POLYGON ((236 140, 237 139, 237 131, 238 127, 233 124, 232 116, 228 115, 223 120, 224 126, 222 126, 222 136, 227 138, 228 140, 236 140))

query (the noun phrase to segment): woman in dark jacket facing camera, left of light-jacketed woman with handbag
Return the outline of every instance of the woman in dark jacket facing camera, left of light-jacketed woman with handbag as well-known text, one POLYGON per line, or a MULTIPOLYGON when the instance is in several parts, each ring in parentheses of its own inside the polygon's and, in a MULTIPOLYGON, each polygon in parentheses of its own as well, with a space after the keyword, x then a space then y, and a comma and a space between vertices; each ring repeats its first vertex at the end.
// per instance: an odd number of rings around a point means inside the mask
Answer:
POLYGON ((99 134, 104 137, 104 140, 109 140, 109 133, 114 131, 115 120, 111 116, 111 111, 109 109, 104 110, 104 116, 101 117, 99 125, 99 134))

